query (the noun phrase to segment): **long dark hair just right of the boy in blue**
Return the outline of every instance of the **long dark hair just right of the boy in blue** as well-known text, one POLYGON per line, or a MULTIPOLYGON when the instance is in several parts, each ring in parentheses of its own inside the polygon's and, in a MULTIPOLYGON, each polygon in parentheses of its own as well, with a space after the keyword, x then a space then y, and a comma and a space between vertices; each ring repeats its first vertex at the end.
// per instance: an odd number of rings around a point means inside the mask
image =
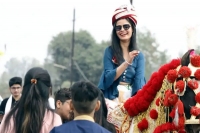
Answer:
POLYGON ((100 91, 98 99, 101 102, 101 106, 99 110, 96 111, 94 114, 95 122, 101 125, 102 127, 106 128, 107 130, 109 130, 111 133, 116 133, 115 126, 107 121, 108 109, 106 106, 104 95, 101 91, 100 91))

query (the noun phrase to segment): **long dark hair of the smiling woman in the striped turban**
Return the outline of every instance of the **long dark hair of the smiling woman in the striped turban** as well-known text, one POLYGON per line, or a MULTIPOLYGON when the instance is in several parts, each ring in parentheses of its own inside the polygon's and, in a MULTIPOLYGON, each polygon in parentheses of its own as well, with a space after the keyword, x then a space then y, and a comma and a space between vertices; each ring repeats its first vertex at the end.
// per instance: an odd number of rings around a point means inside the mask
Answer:
MULTIPOLYGON (((119 19, 120 20, 120 19, 119 19)), ((130 44, 128 47, 129 52, 132 50, 137 50, 137 45, 136 45, 136 26, 133 23, 133 21, 129 18, 126 18, 126 20, 131 24, 131 27, 133 29, 133 33, 131 36, 130 44)), ((118 20, 117 20, 118 21, 118 20)), ((113 25, 113 30, 112 30, 112 35, 111 35, 111 49, 113 51, 113 56, 117 59, 118 63, 121 64, 123 62, 123 51, 120 45, 120 39, 116 34, 115 26, 117 21, 113 25)))

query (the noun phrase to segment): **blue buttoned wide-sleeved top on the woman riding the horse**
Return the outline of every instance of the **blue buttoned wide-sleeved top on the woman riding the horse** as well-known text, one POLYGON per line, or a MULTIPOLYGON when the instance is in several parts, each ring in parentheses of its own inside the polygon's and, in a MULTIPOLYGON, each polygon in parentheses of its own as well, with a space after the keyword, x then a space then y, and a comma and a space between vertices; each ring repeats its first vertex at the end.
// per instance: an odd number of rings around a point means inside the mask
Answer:
POLYGON ((144 55, 140 52, 133 60, 132 65, 123 72, 123 74, 114 81, 116 76, 116 69, 118 65, 113 63, 113 52, 111 47, 107 47, 104 51, 103 65, 104 70, 101 75, 98 88, 104 93, 105 98, 115 99, 118 97, 117 86, 119 82, 130 83, 132 87, 132 95, 141 89, 145 83, 145 59, 144 55))

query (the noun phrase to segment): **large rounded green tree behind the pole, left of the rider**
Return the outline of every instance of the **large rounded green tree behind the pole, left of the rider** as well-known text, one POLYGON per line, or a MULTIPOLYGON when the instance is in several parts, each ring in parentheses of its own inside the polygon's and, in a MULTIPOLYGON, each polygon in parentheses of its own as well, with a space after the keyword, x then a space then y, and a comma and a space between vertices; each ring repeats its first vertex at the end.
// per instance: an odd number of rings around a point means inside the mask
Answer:
MULTIPOLYGON (((54 63, 65 66, 58 69, 61 82, 69 81, 70 47, 72 32, 60 33, 53 37, 48 46, 48 55, 54 63)), ((105 42, 104 42, 105 43, 105 42)), ((85 30, 75 33, 73 81, 86 80, 97 84, 102 72, 104 45, 97 45, 94 38, 85 30)))

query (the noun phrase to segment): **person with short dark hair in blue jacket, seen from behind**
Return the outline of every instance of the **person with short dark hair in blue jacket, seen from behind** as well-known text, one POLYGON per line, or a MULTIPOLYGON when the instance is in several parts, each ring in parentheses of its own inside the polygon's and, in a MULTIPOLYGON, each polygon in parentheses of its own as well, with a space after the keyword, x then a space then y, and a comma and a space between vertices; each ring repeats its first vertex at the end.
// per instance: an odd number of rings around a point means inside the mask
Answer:
POLYGON ((71 109, 74 120, 55 127, 50 133, 111 133, 94 122, 94 113, 100 108, 99 90, 90 82, 76 82, 71 87, 71 109))

